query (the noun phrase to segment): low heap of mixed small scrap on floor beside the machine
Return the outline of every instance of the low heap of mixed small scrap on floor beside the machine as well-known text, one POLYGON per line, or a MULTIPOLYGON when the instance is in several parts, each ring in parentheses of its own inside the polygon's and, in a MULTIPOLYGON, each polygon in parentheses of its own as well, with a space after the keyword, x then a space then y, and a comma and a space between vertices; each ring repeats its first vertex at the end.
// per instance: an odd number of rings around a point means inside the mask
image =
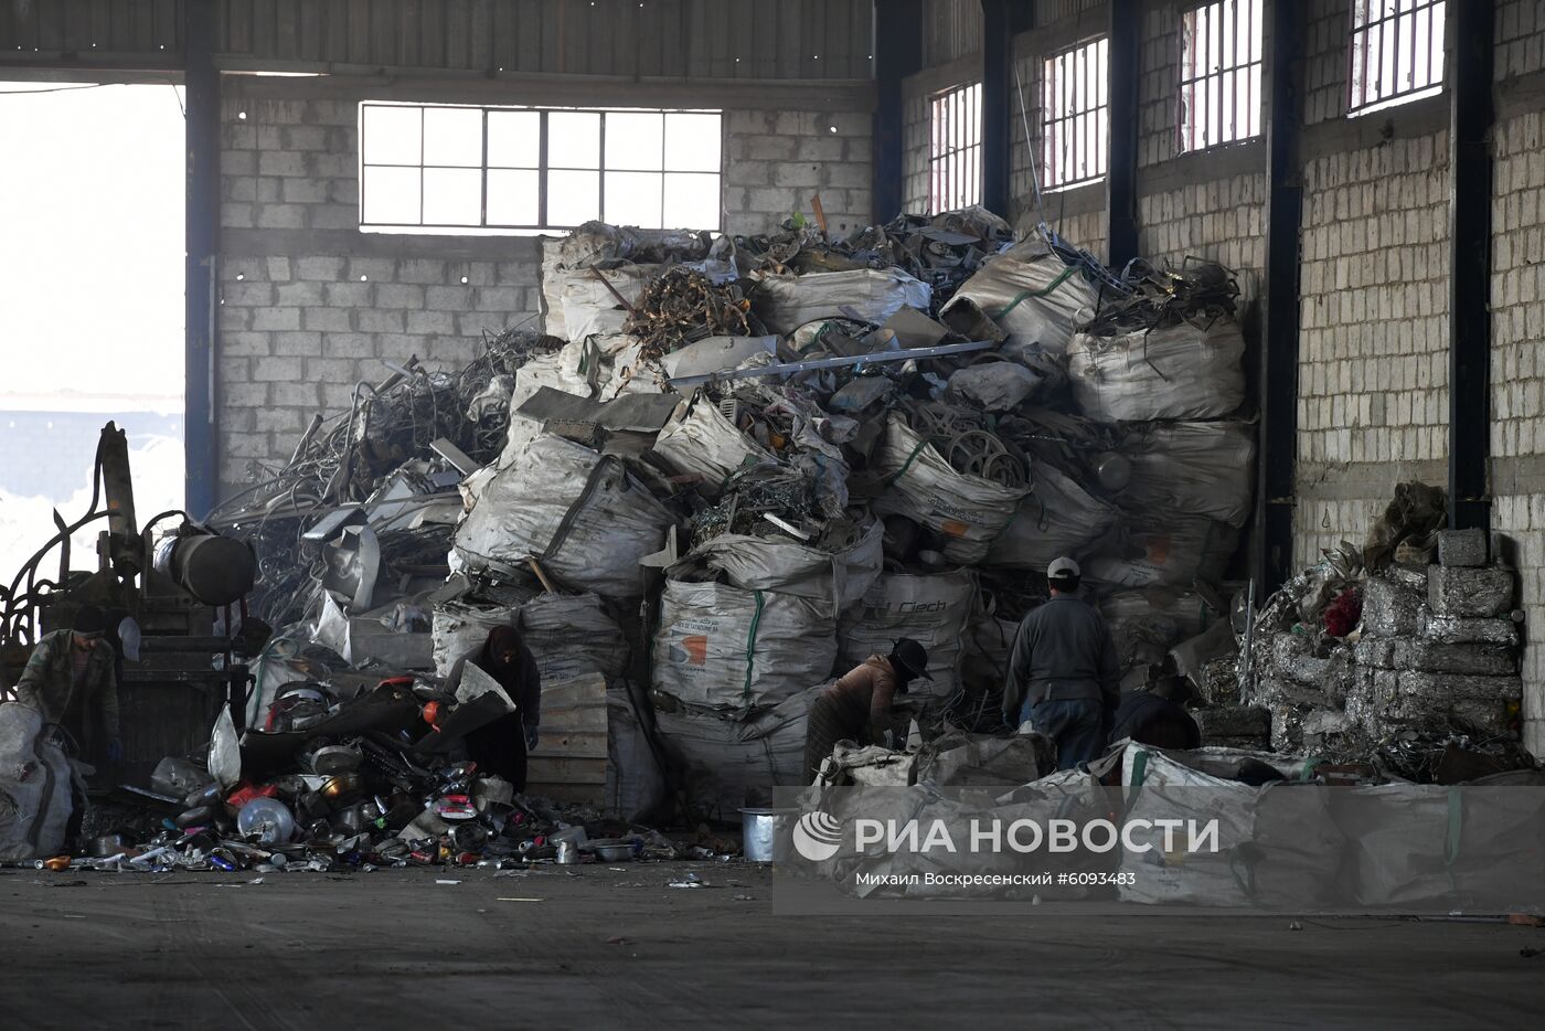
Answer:
POLYGON ((372 870, 405 866, 674 859, 658 832, 599 808, 525 796, 468 759, 467 737, 514 711, 470 668, 456 692, 430 680, 297 682, 261 726, 229 709, 207 753, 168 756, 148 788, 88 812, 77 858, 39 864, 113 872, 372 870))

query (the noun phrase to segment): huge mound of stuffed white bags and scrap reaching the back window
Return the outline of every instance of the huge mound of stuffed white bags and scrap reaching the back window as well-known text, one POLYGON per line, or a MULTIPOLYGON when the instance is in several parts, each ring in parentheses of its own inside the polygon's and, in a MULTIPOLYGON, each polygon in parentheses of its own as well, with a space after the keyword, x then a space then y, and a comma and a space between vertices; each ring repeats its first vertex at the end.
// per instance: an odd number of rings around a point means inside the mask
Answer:
POLYGON ((548 335, 397 374, 221 513, 263 558, 261 611, 306 620, 266 680, 443 674, 451 626, 579 620, 620 646, 575 696, 610 739, 586 745, 596 790, 646 812, 669 770, 694 816, 734 821, 802 778, 814 694, 898 637, 929 649, 929 733, 1001 730, 1058 555, 1132 688, 1228 611, 1255 444, 1216 266, 1123 277, 980 210, 837 243, 592 223, 544 244, 542 297, 548 335), (464 383, 505 391, 502 442, 468 437, 464 383), (402 632, 425 624, 428 648, 402 632))

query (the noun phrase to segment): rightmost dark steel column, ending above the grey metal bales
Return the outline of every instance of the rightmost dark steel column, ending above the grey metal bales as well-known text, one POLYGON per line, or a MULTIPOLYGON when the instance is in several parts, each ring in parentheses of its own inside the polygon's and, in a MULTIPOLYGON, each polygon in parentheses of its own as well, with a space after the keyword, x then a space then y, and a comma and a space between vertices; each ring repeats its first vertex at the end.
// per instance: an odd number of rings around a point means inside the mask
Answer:
POLYGON ((1492 0, 1451 3, 1448 516, 1491 527, 1492 0))

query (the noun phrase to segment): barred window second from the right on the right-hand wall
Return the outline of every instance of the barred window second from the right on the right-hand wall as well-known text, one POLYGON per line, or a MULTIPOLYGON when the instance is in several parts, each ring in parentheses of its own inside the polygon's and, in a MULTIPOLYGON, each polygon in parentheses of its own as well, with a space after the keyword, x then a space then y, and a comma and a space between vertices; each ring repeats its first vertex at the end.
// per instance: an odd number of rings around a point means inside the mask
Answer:
POLYGON ((1180 17, 1180 150, 1261 134, 1261 0, 1180 17))

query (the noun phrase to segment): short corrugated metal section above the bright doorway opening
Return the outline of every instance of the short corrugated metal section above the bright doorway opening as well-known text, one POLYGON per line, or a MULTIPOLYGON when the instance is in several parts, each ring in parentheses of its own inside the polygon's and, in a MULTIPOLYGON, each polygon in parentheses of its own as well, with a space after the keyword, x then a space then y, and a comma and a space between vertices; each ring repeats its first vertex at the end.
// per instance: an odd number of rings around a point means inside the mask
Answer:
POLYGON ((0 0, 0 54, 178 54, 181 0, 0 0))

